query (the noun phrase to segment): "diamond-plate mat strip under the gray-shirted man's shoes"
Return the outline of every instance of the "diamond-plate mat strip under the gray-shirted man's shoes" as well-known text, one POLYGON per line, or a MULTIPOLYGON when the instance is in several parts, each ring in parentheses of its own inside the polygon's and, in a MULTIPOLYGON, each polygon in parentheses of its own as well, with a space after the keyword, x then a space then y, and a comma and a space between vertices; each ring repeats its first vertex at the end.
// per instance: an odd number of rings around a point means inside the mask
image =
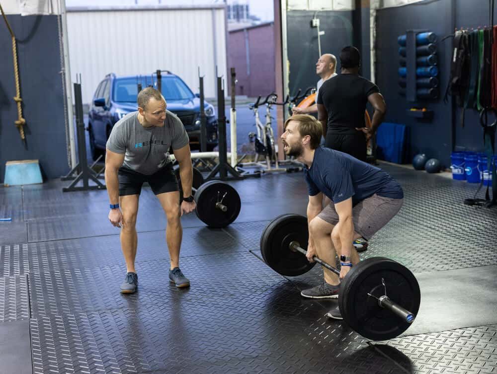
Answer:
POLYGON ((180 266, 190 279, 191 288, 179 290, 170 284, 168 260, 143 261, 137 263, 139 291, 127 296, 119 293, 126 274, 124 265, 29 274, 32 315, 74 314, 143 303, 163 304, 171 302, 171 298, 253 295, 271 289, 275 282, 285 282, 248 252, 186 257, 180 266))

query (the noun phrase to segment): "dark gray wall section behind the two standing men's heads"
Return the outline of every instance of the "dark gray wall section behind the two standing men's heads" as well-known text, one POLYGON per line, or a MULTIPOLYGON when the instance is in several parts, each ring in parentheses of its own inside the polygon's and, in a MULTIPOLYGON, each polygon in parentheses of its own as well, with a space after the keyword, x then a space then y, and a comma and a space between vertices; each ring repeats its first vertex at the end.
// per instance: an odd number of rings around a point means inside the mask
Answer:
MULTIPOLYGON (((316 75, 319 59, 317 29, 311 27, 315 11, 290 10, 287 13, 288 60, 290 63, 290 95, 299 88, 316 87, 320 79, 316 75)), ((340 50, 352 44, 352 11, 320 11, 321 53, 332 53, 336 57, 340 50)), ((339 63, 338 63, 339 67, 339 63)))

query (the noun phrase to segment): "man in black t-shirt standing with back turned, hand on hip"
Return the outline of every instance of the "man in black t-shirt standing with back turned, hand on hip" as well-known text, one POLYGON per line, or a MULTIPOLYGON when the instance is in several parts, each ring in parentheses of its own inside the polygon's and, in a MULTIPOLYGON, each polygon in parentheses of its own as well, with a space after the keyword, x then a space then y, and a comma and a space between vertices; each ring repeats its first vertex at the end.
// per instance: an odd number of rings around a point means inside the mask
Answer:
POLYGON ((340 63, 341 73, 323 83, 316 101, 325 146, 366 161, 366 145, 385 116, 385 100, 376 84, 359 75, 357 48, 343 48, 340 63), (364 123, 368 101, 374 108, 371 129, 364 123))

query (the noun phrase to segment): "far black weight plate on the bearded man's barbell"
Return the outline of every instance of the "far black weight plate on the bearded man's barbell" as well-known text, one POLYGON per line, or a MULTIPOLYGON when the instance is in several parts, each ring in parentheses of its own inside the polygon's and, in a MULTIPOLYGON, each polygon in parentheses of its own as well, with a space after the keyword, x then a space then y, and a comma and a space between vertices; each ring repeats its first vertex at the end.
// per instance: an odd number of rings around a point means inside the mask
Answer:
POLYGON ((290 277, 307 273, 315 262, 290 249, 291 241, 297 241, 307 249, 309 231, 307 218, 296 214, 285 214, 275 218, 264 229, 260 238, 260 253, 271 269, 290 277))

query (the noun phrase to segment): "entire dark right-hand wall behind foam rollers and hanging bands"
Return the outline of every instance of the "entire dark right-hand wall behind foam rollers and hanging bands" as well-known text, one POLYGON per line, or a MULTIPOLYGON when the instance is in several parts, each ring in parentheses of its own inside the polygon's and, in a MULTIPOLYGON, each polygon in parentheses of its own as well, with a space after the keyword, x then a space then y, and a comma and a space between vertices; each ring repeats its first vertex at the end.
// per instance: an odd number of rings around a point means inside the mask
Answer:
POLYGON ((385 121, 409 127, 410 159, 414 154, 424 152, 428 157, 438 158, 448 166, 452 150, 483 149, 477 111, 466 110, 463 128, 459 109, 453 110, 450 100, 448 104, 443 102, 450 75, 452 39, 441 39, 453 34, 454 27, 489 25, 488 9, 488 0, 427 0, 377 11, 376 82, 388 107, 385 121), (405 34, 408 29, 429 29, 438 37, 440 97, 436 100, 420 100, 417 105, 407 102, 404 96, 398 94, 397 37, 405 34), (406 110, 412 106, 424 106, 433 110, 433 120, 420 121, 409 117, 406 110))

